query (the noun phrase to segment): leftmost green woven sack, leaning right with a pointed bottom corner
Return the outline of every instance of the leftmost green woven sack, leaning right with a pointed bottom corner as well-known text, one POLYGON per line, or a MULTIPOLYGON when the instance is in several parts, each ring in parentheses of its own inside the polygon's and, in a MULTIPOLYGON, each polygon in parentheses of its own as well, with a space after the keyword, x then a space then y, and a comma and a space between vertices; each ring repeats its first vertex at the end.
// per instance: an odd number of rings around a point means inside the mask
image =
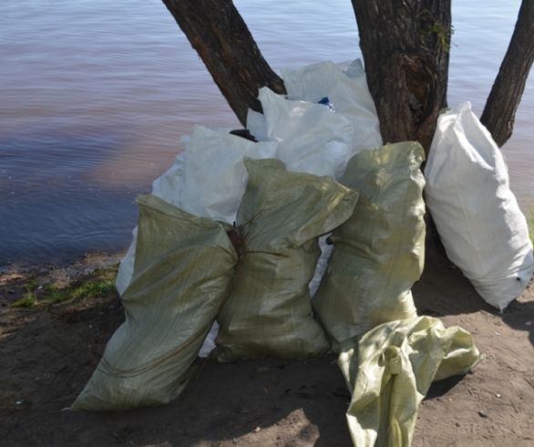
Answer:
POLYGON ((136 264, 122 296, 126 321, 73 410, 129 410, 175 399, 228 296, 237 255, 227 229, 155 196, 138 203, 136 264))

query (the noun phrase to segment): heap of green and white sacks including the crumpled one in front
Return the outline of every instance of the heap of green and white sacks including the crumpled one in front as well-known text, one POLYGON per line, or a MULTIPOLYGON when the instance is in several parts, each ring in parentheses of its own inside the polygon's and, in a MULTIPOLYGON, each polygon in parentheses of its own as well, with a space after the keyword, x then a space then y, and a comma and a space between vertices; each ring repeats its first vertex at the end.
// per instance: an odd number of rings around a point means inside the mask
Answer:
MULTIPOLYGON (((411 295, 425 259, 421 146, 382 145, 359 61, 282 78, 289 99, 262 88, 263 114, 249 113, 257 142, 198 126, 139 197, 117 279, 126 321, 72 409, 167 403, 213 340, 219 361, 334 351, 354 444, 409 445, 431 382, 478 362, 473 338, 418 317, 411 295)), ((531 246, 525 257, 521 268, 531 246)))

